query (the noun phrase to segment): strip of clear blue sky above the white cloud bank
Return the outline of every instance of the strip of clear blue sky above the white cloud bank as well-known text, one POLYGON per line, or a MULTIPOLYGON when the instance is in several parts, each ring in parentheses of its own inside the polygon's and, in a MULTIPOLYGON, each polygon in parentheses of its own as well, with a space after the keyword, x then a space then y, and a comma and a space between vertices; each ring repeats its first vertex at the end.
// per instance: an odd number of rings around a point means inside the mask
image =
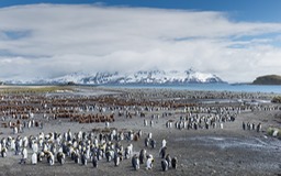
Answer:
POLYGON ((1 0, 0 7, 19 4, 92 4, 127 6, 227 12, 233 20, 281 22, 280 0, 1 0))

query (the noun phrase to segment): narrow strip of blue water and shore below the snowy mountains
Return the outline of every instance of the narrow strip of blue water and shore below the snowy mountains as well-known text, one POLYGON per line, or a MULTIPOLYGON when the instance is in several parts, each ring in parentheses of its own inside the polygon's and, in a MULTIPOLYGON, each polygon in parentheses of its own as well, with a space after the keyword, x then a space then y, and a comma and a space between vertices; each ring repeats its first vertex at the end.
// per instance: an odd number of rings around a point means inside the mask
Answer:
POLYGON ((233 94, 269 94, 281 95, 280 85, 247 85, 247 84, 186 84, 186 85, 0 85, 3 88, 42 88, 60 87, 71 88, 110 88, 110 89, 167 89, 167 90, 188 90, 188 91, 216 91, 233 94), (270 90, 272 89, 272 90, 270 90))

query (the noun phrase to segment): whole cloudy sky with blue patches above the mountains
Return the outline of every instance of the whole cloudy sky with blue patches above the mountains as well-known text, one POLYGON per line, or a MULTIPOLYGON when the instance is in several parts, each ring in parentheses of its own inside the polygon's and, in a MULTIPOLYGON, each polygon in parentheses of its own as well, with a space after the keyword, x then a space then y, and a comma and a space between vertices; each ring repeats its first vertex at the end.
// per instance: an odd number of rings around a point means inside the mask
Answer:
POLYGON ((281 75, 279 0, 0 0, 0 80, 149 69, 281 75))

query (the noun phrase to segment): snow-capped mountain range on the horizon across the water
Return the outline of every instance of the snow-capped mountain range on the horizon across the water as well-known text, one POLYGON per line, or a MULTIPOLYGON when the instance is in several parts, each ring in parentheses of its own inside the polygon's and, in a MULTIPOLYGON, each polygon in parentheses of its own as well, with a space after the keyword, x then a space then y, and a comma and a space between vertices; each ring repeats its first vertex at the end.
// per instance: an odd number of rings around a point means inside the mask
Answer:
MULTIPOLYGON (((11 80, 18 82, 19 80, 11 80)), ((80 85, 109 85, 109 84, 210 84, 225 82, 213 74, 200 73, 193 69, 186 72, 179 70, 139 70, 135 73, 74 73, 53 79, 36 79, 32 81, 22 81, 22 84, 80 84, 80 85)))

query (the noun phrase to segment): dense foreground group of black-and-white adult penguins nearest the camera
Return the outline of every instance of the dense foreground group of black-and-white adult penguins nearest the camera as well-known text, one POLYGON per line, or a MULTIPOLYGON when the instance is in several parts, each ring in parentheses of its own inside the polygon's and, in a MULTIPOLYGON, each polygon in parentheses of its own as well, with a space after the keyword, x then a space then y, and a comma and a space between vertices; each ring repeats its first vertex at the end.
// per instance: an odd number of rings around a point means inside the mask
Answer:
MULTIPOLYGON (((40 164, 47 163, 53 166, 55 164, 64 165, 66 161, 79 165, 92 165, 97 168, 99 162, 105 160, 108 163, 114 163, 119 166, 124 160, 132 160, 132 167, 137 170, 142 165, 146 169, 153 169, 155 157, 146 152, 147 147, 139 152, 134 151, 133 143, 135 140, 142 139, 142 131, 117 132, 115 129, 106 133, 100 132, 98 135, 94 132, 72 133, 68 130, 65 133, 48 133, 41 132, 38 135, 21 136, 15 139, 8 136, 2 138, 0 142, 1 156, 8 157, 8 152, 13 155, 21 155, 19 164, 40 164), (122 142, 130 142, 123 146, 122 142)), ((151 139, 151 133, 148 133, 148 141, 151 139)), ((178 160, 168 154, 167 141, 161 142, 159 156, 162 170, 177 168, 178 160)), ((148 147, 155 148, 156 144, 148 147)))

